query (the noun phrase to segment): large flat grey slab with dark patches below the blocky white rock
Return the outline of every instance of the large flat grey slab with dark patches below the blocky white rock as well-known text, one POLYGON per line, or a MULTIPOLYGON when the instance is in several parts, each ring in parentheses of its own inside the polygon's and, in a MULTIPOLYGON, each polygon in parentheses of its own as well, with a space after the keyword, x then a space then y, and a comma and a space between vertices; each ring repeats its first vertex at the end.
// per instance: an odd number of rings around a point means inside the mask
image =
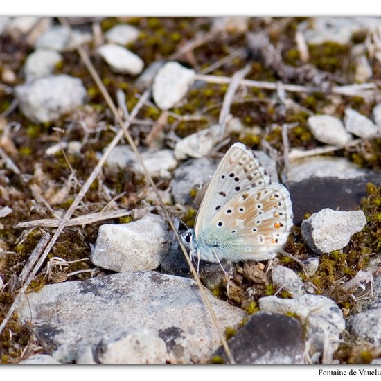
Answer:
MULTIPOLYGON (((206 293, 222 330, 246 316, 206 293)), ((21 321, 31 319, 35 335, 60 362, 73 361, 79 343, 95 348, 103 336, 131 328, 155 330, 172 362, 207 362, 220 346, 195 281, 157 272, 46 285, 30 292, 17 314, 21 321)))

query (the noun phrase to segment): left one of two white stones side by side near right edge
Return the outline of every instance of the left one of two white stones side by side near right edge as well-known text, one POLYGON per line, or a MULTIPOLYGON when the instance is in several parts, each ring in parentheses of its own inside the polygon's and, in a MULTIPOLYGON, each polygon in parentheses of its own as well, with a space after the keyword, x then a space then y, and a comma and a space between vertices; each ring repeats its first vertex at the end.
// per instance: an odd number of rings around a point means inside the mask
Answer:
POLYGON ((335 116, 310 116, 308 125, 314 137, 322 143, 342 147, 352 139, 351 135, 346 132, 342 121, 335 116))

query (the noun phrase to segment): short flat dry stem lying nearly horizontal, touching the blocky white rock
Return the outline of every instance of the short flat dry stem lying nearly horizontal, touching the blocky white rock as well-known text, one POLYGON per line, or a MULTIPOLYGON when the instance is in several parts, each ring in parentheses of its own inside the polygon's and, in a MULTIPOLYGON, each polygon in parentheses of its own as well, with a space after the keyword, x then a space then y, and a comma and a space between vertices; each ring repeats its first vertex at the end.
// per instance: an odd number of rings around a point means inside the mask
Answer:
MULTIPOLYGON (((67 221, 67 227, 83 226, 88 224, 94 224, 95 222, 110 220, 112 218, 123 217, 125 215, 132 214, 132 211, 127 211, 127 209, 119 211, 107 211, 107 212, 98 212, 98 213, 89 213, 87 215, 80 215, 76 218, 71 218, 67 221)), ((19 222, 16 225, 17 229, 33 229, 36 227, 58 227, 61 220, 56 218, 42 218, 42 220, 33 220, 26 222, 19 222)))

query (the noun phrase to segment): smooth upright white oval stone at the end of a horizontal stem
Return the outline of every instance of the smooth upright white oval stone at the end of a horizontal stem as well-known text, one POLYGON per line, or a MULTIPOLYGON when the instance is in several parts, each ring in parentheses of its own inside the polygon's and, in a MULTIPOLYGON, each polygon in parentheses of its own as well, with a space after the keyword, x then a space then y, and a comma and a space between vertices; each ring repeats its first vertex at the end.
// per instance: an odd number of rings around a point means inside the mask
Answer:
POLYGON ((177 62, 167 62, 154 78, 153 98, 161 109, 170 109, 185 96, 195 80, 195 71, 177 62))

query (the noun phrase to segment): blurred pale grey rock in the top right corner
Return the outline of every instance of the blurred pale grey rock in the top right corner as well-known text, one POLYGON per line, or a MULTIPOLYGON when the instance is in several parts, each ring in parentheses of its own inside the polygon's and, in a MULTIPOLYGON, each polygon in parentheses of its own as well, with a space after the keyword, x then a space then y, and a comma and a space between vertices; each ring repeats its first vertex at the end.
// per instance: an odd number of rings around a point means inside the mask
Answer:
POLYGON ((299 30, 309 44, 326 41, 349 44, 353 33, 380 26, 379 17, 314 17, 301 24, 299 30))

